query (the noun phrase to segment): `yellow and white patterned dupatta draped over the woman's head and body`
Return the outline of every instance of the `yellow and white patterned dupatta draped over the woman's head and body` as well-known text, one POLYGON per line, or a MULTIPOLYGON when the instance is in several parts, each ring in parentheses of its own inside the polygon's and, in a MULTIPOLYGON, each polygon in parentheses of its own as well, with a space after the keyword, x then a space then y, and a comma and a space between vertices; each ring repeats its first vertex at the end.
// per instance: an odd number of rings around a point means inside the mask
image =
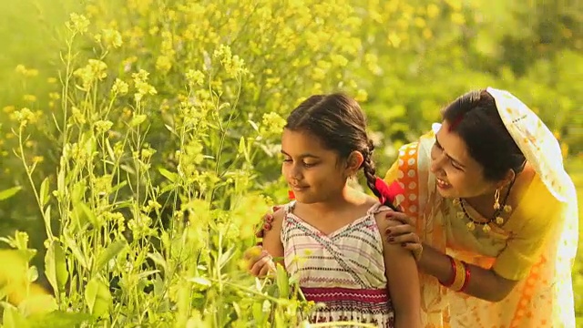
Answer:
MULTIPOLYGON (((517 97, 489 87, 496 108, 518 147, 534 167, 549 193, 564 204, 557 229, 527 277, 518 282, 502 302, 486 302, 445 289, 434 277, 421 274, 424 326, 433 327, 574 327, 575 315, 571 268, 578 243, 578 211, 575 187, 563 169, 556 138, 517 97)), ((397 202, 416 220, 419 237, 438 251, 490 268, 496 256, 456 251, 452 235, 455 222, 451 200, 442 199, 435 190, 435 177, 429 171, 433 131, 399 151, 385 180, 395 179, 404 188, 397 202), (450 238, 450 240, 447 240, 450 238)))

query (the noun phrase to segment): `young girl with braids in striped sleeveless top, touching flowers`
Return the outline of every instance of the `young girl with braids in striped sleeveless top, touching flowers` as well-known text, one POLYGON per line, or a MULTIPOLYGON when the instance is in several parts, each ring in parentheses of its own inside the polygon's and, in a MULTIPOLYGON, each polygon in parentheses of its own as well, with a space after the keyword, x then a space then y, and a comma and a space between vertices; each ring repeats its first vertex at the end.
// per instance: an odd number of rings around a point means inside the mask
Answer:
POLYGON ((358 103, 343 94, 312 96, 292 111, 281 138, 281 172, 295 200, 274 213, 263 236, 269 256, 255 273, 273 270, 273 257, 282 257, 305 297, 326 305, 311 314, 312 323, 419 327, 414 257, 379 232, 391 224, 384 218, 393 205, 375 176, 365 128, 358 103), (380 202, 347 186, 359 169, 380 202))

